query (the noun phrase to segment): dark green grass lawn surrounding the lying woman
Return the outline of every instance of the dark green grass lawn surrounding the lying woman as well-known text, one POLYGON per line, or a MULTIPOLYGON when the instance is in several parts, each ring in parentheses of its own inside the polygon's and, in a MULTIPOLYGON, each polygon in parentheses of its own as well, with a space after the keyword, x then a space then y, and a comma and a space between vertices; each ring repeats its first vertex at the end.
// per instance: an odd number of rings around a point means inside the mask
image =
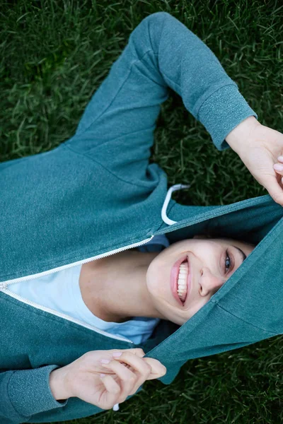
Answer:
MULTIPOLYGON (((19 0, 0 8, 0 161, 59 146, 74 134, 88 100, 139 22, 167 11, 212 49, 262 124, 283 132, 280 1, 19 0)), ((231 204, 267 194, 231 149, 209 134, 171 90, 162 105, 151 161, 168 183, 190 183, 183 204, 231 204)), ((120 411, 88 423, 281 424, 282 336, 190 360, 170 385, 158 381, 120 411)))

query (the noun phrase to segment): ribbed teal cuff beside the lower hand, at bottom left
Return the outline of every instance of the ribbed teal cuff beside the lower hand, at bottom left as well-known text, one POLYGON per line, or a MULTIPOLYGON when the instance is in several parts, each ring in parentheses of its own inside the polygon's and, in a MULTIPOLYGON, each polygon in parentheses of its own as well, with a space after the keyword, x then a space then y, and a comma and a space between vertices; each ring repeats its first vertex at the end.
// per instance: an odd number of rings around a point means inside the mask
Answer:
POLYGON ((50 389, 50 372, 59 368, 57 365, 31 370, 16 370, 11 375, 7 386, 8 398, 16 412, 25 418, 35 413, 62 408, 67 401, 58 402, 50 389))

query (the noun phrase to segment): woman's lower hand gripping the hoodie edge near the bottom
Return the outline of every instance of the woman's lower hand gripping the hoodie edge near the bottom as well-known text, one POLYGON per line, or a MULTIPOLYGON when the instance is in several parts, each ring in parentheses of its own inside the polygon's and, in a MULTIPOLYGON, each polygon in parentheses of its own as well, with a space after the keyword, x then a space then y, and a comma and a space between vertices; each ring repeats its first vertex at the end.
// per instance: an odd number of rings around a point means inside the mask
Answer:
POLYGON ((99 408, 111 409, 134 394, 146 380, 166 374, 166 367, 158 360, 143 358, 144 355, 140 348, 87 352, 52 371, 50 389, 57 400, 78 397, 99 408), (116 352, 122 355, 114 358, 116 352), (102 359, 110 362, 103 364, 102 359), (100 377, 101 373, 105 377, 100 377))

